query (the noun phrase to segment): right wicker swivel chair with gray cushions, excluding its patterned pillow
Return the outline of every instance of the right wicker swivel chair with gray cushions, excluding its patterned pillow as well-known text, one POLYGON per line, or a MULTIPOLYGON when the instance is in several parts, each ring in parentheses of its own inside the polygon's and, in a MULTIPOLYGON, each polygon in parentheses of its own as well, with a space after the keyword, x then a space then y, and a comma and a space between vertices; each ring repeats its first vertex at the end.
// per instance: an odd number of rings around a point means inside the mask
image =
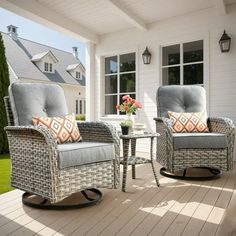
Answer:
MULTIPOLYGON (((175 178, 191 178, 186 174, 189 168, 203 167, 210 171, 207 177, 196 175, 197 179, 219 176, 220 171, 233 168, 235 129, 228 118, 208 118, 208 133, 173 133, 168 111, 206 111, 206 93, 200 86, 162 86, 157 90, 156 131, 157 162, 161 174, 175 178)), ((196 172, 196 171, 195 171, 196 172)), ((192 178, 191 178, 192 179, 192 178)))

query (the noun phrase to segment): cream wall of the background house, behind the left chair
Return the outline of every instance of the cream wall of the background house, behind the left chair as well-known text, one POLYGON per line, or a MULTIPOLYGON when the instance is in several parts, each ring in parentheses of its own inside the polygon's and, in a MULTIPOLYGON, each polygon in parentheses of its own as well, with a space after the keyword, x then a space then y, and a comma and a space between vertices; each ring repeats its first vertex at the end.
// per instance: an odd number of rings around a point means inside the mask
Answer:
MULTIPOLYGON (((26 83, 45 83, 39 80, 26 79, 26 78, 20 78, 19 81, 26 83)), ((57 84, 60 85, 64 90, 66 103, 68 106, 68 112, 76 114, 76 100, 85 99, 85 86, 75 86, 75 85, 59 84, 59 83, 57 84)))

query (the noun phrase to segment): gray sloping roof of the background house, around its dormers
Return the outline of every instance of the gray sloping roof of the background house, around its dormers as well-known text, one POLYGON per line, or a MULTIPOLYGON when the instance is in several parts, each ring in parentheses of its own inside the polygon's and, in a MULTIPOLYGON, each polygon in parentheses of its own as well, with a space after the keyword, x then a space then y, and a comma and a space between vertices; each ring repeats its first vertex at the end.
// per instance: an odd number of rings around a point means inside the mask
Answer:
POLYGON ((2 33, 2 38, 7 61, 18 78, 85 86, 85 77, 78 81, 66 71, 68 65, 81 63, 72 53, 19 37, 18 40, 12 40, 6 33, 2 33), (49 51, 58 60, 55 73, 43 73, 31 61, 34 55, 48 53, 49 51))

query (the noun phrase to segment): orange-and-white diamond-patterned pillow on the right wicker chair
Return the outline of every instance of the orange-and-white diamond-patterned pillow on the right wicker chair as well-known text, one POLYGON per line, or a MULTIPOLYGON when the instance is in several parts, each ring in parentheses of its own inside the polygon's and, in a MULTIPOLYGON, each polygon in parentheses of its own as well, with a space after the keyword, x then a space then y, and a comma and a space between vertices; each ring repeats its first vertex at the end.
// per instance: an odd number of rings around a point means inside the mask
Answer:
POLYGON ((174 133, 209 132, 206 112, 177 113, 168 111, 174 133))

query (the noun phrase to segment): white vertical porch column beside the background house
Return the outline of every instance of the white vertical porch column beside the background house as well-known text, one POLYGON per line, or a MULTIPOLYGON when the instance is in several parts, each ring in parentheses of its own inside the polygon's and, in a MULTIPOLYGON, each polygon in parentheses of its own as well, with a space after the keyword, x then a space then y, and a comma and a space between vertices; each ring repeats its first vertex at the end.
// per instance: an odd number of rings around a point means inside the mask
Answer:
POLYGON ((95 44, 86 43, 86 121, 95 120, 95 44))

